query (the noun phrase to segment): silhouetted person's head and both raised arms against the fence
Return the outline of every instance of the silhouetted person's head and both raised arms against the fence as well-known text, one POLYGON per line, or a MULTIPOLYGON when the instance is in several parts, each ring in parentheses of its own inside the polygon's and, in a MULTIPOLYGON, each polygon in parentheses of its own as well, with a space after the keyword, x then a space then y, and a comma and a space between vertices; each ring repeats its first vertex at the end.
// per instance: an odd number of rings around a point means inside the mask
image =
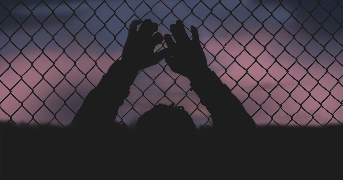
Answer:
MULTIPOLYGON (((197 28, 191 26, 192 40, 186 34, 180 20, 170 25, 169 34, 164 36, 168 48, 154 53, 163 37, 156 23, 144 20, 130 24, 129 34, 122 52, 122 60, 117 60, 108 72, 85 98, 81 108, 68 125, 68 129, 91 129, 104 131, 114 127, 118 108, 128 97, 130 86, 137 72, 157 64, 162 59, 170 69, 187 77, 201 104, 211 113, 214 127, 221 135, 244 134, 255 128, 255 122, 240 101, 208 68, 201 48, 197 28)), ((197 141, 196 128, 190 115, 174 105, 156 105, 145 112, 137 121, 135 134, 140 144, 189 144, 197 141)))

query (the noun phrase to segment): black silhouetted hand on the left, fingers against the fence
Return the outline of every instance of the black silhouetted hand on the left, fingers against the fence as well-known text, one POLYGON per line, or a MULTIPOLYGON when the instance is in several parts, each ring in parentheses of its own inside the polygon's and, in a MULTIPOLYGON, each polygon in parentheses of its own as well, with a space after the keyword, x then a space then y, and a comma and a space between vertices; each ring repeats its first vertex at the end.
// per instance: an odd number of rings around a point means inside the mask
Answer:
POLYGON ((137 31, 139 24, 141 24, 139 20, 133 20, 130 24, 121 58, 137 71, 157 64, 167 54, 167 50, 154 53, 155 46, 161 44, 163 40, 161 33, 154 34, 158 30, 158 25, 146 19, 137 31))

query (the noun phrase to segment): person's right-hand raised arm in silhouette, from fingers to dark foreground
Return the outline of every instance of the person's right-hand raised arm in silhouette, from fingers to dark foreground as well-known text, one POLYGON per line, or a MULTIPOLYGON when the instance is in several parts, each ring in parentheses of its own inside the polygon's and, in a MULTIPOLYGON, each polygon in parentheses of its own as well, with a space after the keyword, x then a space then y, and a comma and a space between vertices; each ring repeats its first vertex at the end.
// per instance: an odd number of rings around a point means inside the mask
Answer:
POLYGON ((201 48, 196 27, 191 26, 192 39, 185 31, 182 21, 170 25, 169 34, 164 36, 171 56, 166 57, 170 69, 187 77, 200 102, 211 113, 213 125, 225 133, 246 132, 255 129, 255 122, 218 76, 208 68, 201 48))

